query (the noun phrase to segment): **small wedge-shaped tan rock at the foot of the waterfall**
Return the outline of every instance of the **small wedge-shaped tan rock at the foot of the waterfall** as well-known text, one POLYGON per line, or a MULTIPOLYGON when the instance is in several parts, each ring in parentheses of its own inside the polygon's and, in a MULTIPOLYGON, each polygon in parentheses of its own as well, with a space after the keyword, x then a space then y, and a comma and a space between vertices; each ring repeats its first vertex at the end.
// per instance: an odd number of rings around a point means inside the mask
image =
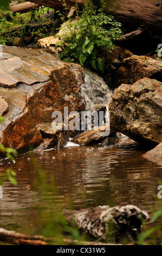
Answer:
POLYGON ((72 139, 72 142, 86 146, 93 143, 99 143, 107 136, 109 136, 109 125, 100 126, 98 130, 86 131, 77 135, 72 139))

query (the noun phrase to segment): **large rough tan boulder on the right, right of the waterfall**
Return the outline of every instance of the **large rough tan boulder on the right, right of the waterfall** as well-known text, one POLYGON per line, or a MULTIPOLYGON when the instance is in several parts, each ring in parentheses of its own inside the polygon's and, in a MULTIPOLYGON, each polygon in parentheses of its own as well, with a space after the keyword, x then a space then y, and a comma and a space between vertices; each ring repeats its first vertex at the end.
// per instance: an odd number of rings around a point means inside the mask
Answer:
POLYGON ((143 78, 115 89, 109 104, 111 129, 137 142, 162 142, 162 83, 143 78))

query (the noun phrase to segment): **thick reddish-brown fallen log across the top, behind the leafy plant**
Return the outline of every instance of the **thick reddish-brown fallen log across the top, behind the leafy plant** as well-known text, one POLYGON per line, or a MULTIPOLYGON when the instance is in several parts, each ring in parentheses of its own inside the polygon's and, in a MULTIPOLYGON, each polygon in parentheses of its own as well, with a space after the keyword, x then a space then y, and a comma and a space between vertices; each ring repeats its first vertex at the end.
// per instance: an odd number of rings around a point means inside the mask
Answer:
MULTIPOLYGON (((59 0, 32 0, 32 2, 60 10, 64 8, 63 2, 59 0)), ((76 0, 67 0, 67 7, 73 7, 75 2, 76 0)), ((162 4, 160 0, 106 0, 105 2, 105 12, 114 15, 116 20, 132 30, 144 25, 150 31, 155 30, 157 34, 162 33, 162 4)), ((83 0, 77 0, 77 3, 81 7, 83 0)))

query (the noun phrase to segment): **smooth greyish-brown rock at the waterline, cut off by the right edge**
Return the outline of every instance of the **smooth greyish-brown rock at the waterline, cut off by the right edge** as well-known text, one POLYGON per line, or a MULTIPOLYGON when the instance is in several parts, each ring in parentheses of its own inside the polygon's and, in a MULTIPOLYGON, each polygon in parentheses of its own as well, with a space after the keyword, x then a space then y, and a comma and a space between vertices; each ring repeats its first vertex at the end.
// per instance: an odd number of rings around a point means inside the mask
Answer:
POLYGON ((160 165, 162 165, 162 142, 154 149, 146 152, 143 156, 148 160, 158 162, 160 165))

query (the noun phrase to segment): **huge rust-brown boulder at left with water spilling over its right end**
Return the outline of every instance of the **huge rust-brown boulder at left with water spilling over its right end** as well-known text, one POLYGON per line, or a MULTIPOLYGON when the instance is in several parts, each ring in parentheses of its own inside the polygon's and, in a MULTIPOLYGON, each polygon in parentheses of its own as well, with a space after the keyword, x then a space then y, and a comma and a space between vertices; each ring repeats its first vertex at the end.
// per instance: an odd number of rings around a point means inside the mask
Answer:
POLYGON ((64 107, 69 113, 95 107, 105 113, 101 105, 108 106, 111 96, 103 79, 81 65, 62 62, 45 50, 5 46, 0 58, 0 114, 5 117, 0 143, 16 150, 63 147, 77 131, 51 129, 52 113, 60 111, 64 117, 64 107))

